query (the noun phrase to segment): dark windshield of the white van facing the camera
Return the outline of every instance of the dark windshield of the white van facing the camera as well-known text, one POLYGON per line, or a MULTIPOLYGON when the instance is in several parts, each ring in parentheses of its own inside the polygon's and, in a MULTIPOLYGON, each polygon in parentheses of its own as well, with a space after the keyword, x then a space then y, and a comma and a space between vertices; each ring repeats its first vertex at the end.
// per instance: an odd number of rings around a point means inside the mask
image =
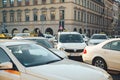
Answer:
POLYGON ((62 43, 83 43, 83 38, 79 34, 61 34, 60 42, 62 43))

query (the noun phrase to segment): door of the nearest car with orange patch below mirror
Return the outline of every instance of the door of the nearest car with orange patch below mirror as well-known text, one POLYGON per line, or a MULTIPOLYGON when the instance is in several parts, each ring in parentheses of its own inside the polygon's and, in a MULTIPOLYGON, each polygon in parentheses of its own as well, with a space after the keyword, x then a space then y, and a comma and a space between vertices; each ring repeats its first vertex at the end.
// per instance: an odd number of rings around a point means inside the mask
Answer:
MULTIPOLYGON (((6 62, 11 62, 11 59, 0 47, 0 65, 6 62)), ((0 66, 0 80, 20 80, 20 74, 15 69, 3 69, 0 66)))

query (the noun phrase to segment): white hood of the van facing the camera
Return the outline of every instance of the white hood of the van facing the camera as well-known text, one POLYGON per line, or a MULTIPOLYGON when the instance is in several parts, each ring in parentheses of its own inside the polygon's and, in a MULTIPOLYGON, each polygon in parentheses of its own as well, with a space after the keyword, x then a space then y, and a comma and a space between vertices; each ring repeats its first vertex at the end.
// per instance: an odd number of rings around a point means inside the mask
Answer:
POLYGON ((86 47, 86 43, 60 43, 62 48, 65 49, 84 49, 86 47))

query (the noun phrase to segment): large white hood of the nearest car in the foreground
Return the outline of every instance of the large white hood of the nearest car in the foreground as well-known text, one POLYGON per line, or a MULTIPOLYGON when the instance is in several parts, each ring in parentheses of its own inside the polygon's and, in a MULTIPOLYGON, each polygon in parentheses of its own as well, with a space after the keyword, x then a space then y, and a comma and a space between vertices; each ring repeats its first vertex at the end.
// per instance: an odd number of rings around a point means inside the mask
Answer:
POLYGON ((47 80, 107 80, 105 71, 72 60, 64 59, 51 64, 29 67, 26 72, 47 80))

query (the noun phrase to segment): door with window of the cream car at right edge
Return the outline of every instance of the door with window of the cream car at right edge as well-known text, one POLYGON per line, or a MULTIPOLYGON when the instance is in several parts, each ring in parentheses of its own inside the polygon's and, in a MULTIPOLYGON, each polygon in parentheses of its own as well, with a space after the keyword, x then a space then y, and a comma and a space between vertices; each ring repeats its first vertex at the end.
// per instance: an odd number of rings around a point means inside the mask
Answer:
POLYGON ((109 43, 109 49, 106 50, 106 54, 109 67, 120 71, 120 41, 109 43))

